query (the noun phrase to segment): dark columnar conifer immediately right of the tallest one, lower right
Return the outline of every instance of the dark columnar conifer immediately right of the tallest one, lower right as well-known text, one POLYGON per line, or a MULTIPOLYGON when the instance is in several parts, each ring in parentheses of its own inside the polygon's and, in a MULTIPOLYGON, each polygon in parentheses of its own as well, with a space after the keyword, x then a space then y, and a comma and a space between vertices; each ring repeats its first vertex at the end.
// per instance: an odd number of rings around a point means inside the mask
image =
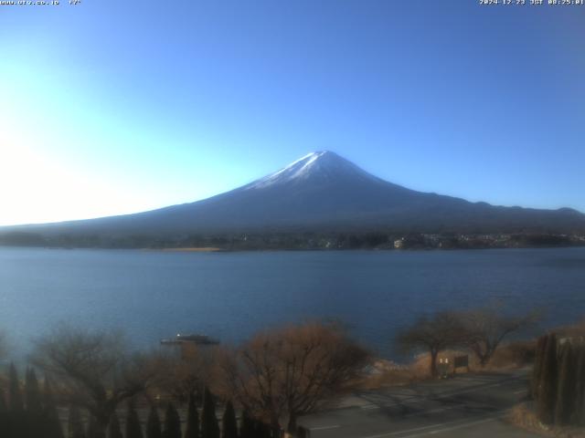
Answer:
POLYGON ((558 374, 557 407, 555 422, 559 425, 568 425, 575 416, 575 399, 577 397, 575 383, 577 380, 575 356, 570 344, 563 347, 558 374))

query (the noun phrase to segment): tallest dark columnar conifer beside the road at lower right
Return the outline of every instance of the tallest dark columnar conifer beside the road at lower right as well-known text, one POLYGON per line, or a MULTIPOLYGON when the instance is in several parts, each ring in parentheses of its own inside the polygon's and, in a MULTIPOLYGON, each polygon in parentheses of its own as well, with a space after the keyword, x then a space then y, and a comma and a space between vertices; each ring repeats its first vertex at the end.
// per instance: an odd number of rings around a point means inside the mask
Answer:
POLYGON ((555 419, 555 407, 558 389, 557 337, 548 336, 547 349, 542 363, 542 373, 538 389, 537 415, 545 424, 552 424, 555 419))

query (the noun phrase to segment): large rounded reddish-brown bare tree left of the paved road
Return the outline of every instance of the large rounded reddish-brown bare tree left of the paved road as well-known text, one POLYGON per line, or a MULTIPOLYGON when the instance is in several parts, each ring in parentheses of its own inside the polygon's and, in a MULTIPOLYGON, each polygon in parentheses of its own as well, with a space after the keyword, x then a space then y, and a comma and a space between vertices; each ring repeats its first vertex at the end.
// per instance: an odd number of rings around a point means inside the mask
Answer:
POLYGON ((346 389, 367 356, 340 326, 307 323, 263 332, 227 353, 223 381, 229 396, 273 429, 283 422, 293 431, 300 415, 346 389))

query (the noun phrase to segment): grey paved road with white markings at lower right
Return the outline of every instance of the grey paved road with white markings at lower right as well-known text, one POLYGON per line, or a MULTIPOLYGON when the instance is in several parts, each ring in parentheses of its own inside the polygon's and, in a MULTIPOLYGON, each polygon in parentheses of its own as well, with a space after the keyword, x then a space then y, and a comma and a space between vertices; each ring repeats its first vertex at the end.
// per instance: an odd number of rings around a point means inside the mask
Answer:
POLYGON ((527 395, 527 372, 460 375, 361 392, 299 422, 311 438, 536 437, 504 420, 527 395))

